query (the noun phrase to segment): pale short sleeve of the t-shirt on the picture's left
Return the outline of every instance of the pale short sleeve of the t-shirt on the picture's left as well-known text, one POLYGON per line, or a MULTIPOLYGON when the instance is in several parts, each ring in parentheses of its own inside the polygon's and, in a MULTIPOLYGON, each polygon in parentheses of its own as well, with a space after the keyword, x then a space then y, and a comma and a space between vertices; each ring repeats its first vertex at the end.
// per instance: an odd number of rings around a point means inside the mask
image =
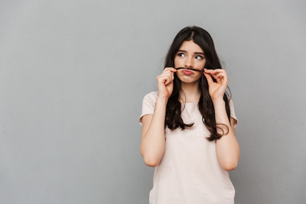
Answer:
POLYGON ((155 110, 156 98, 158 96, 157 91, 153 91, 145 95, 142 101, 142 112, 138 119, 140 125, 142 125, 142 117, 147 114, 153 114, 155 110))

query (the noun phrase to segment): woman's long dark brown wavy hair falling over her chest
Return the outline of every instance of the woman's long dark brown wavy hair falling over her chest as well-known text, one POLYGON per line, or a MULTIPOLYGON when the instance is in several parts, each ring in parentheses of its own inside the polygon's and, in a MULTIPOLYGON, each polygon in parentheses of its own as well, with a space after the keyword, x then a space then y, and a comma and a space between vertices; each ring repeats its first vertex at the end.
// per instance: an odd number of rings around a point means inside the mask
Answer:
MULTIPOLYGON (((204 51, 206 59, 204 68, 207 69, 221 68, 220 60, 217 55, 212 37, 206 30, 197 26, 185 27, 177 33, 166 55, 165 68, 167 67, 174 68, 174 58, 177 50, 184 41, 191 41, 191 40, 197 45, 199 45, 204 51)), ((198 102, 198 109, 202 114, 203 123, 211 133, 210 136, 207 137, 207 139, 209 141, 214 141, 221 138, 221 136, 227 134, 229 131, 229 127, 222 123, 216 124, 215 109, 213 101, 208 92, 207 79, 203 74, 199 80, 200 80, 199 91, 201 95, 198 102), (225 132, 222 129, 222 127, 224 126, 225 130, 227 130, 225 132), (221 131, 222 134, 219 134, 217 132, 217 129, 222 130, 221 131)), ((215 79, 213 80, 216 81, 215 79)), ((175 77, 174 89, 171 96, 168 99, 166 107, 165 128, 168 127, 169 129, 174 130, 179 127, 181 128, 181 130, 184 130, 185 127, 193 126, 193 123, 185 124, 182 120, 181 117, 182 109, 181 109, 181 103, 179 101, 181 91, 182 90, 180 87, 180 80, 177 77, 175 77)), ((227 116, 230 120, 229 96, 227 93, 224 93, 223 100, 225 102, 227 116)))

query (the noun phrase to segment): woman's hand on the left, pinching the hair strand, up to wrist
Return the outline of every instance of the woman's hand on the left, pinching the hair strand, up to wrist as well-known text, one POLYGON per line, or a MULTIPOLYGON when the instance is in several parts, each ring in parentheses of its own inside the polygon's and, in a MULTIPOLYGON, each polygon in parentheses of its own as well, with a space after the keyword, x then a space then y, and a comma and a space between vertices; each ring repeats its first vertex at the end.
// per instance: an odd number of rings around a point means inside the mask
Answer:
POLYGON ((175 68, 165 68, 164 71, 156 77, 158 86, 158 97, 168 99, 173 91, 175 68))

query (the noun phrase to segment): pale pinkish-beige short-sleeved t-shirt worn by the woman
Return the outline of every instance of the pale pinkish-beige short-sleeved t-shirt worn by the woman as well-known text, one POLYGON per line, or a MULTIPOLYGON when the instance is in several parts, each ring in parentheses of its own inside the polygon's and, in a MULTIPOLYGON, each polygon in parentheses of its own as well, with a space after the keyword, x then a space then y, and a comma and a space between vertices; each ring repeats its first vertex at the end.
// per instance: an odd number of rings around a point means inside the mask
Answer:
MULTIPOLYGON (((144 97, 140 124, 142 116, 154 113, 157 96, 154 91, 144 97)), ((232 101, 230 109, 236 126, 232 101)), ((234 204, 234 186, 219 165, 216 141, 206 139, 210 133, 197 103, 186 103, 181 117, 184 123, 194 125, 185 130, 166 128, 166 149, 155 167, 150 204, 234 204)))

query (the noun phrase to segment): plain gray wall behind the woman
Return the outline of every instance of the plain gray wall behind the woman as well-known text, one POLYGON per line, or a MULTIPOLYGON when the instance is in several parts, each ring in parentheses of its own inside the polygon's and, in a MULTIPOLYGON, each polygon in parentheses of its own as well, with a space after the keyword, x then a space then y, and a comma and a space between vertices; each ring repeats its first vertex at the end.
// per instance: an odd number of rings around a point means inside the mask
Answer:
POLYGON ((306 200, 305 0, 1 0, 0 203, 146 204, 143 96, 208 30, 240 124, 236 204, 306 200))

